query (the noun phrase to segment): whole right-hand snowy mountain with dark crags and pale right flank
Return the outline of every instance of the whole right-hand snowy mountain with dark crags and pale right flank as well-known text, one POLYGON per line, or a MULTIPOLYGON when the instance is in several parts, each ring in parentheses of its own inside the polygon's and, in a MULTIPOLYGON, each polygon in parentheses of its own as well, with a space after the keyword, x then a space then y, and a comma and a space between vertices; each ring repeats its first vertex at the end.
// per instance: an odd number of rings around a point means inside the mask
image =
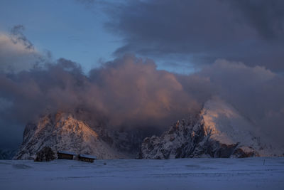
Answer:
POLYGON ((144 139, 140 159, 185 157, 271 157, 284 150, 263 142, 257 127, 219 98, 204 104, 200 115, 177 122, 160 137, 144 139))

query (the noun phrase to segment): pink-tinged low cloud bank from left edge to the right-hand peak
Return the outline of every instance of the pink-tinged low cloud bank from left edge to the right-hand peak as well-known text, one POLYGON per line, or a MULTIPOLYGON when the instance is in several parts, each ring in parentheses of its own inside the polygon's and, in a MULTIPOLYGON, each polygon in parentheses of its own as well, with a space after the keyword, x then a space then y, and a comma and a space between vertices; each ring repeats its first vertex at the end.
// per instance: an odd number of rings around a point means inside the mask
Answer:
POLYGON ((57 111, 75 113, 91 127, 163 131, 202 106, 183 90, 175 75, 135 56, 105 63, 89 76, 80 65, 65 59, 46 63, 44 68, 1 73, 0 97, 5 107, 0 110, 1 131, 57 111))

